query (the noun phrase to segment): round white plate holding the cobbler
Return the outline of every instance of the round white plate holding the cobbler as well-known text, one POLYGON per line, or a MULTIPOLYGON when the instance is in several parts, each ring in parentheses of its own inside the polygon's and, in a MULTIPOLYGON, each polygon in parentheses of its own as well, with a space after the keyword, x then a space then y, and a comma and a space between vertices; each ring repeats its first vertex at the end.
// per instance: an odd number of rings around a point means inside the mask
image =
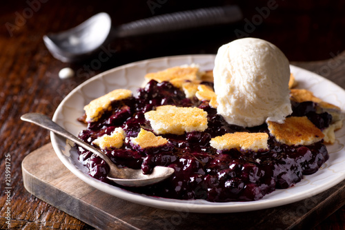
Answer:
MULTIPOLYGON (((170 56, 138 61, 108 70, 79 85, 75 90, 70 92, 57 108, 53 120, 72 132, 72 134, 77 135, 81 129, 86 128, 77 121, 77 118, 83 114, 83 106, 88 104, 92 99, 117 88, 126 88, 132 90, 132 92, 136 92, 144 80, 144 74, 164 70, 176 65, 198 63, 201 70, 212 70, 214 59, 215 55, 170 56)), ((345 98, 345 92, 341 87, 324 79, 322 76, 318 76, 299 67, 291 66, 291 72, 295 74, 295 78, 299 82, 298 87, 311 90, 315 96, 341 107, 344 111, 345 102, 341 101, 341 99, 345 98)), ((119 189, 118 187, 95 180, 83 171, 85 169, 79 164, 77 158, 73 157, 77 154, 75 149, 71 147, 72 145, 55 134, 51 133, 50 135, 52 146, 57 156, 81 180, 112 196, 161 209, 199 213, 224 213, 266 209, 314 196, 345 179, 345 149, 343 145, 345 143, 345 127, 336 132, 336 143, 327 146, 330 155, 329 160, 319 171, 313 175, 305 176, 294 187, 274 191, 258 201, 222 203, 208 202, 205 200, 153 198, 133 194, 124 189, 119 189)))

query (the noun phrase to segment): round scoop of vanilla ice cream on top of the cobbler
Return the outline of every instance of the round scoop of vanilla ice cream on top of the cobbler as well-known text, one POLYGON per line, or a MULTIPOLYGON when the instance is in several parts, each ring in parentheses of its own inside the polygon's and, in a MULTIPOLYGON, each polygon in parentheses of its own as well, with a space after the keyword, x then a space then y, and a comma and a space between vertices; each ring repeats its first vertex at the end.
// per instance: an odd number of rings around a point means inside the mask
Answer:
POLYGON ((262 39, 238 39, 222 45, 213 70, 217 113, 244 127, 284 122, 292 113, 290 66, 279 48, 262 39))

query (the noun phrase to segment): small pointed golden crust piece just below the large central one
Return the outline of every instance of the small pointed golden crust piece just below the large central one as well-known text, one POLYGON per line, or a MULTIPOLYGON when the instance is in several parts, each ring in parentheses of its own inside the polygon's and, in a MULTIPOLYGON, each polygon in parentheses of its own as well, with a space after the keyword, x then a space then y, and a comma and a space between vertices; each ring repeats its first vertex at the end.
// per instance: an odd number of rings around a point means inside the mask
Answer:
POLYGON ((168 143, 166 138, 156 136, 154 133, 146 131, 145 129, 140 129, 138 136, 136 138, 131 137, 130 140, 132 143, 139 145, 143 149, 148 147, 158 147, 168 143))

